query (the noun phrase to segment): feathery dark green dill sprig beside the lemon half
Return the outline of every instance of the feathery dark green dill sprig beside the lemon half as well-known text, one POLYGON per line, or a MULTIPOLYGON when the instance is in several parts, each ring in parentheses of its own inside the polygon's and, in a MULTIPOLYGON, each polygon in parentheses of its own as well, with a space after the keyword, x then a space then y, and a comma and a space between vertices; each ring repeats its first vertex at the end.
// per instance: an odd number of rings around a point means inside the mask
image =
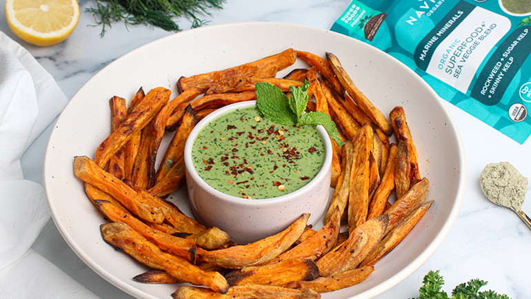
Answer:
POLYGON ((101 37, 106 26, 124 21, 126 25, 150 25, 166 31, 179 32, 182 29, 174 21, 185 17, 192 21, 192 28, 208 23, 198 16, 210 16, 211 8, 222 8, 225 0, 97 0, 96 7, 87 8, 94 14, 97 25, 101 25, 101 37))

